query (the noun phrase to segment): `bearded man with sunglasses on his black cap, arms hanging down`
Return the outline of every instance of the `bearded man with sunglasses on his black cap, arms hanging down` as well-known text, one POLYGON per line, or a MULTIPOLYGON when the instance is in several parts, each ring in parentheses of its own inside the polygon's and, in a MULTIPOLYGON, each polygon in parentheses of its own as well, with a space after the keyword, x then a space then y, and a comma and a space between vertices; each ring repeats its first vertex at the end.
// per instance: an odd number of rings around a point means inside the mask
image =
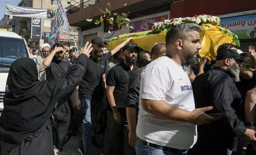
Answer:
POLYGON ((135 64, 140 47, 136 43, 128 43, 122 49, 123 61, 109 70, 106 80, 109 107, 107 108, 108 119, 103 155, 108 155, 113 145, 117 155, 122 155, 123 150, 126 155, 136 154, 134 147, 129 145, 125 101, 129 78, 132 72, 138 69, 135 64))

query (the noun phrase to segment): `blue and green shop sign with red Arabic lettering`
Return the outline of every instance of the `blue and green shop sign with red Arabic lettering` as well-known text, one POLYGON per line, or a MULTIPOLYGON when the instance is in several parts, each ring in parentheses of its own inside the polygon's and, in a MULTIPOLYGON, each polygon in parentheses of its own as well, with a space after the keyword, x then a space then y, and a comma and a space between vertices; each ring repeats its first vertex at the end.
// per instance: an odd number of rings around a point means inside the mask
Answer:
POLYGON ((219 26, 237 34, 239 39, 256 38, 256 14, 223 18, 219 26))

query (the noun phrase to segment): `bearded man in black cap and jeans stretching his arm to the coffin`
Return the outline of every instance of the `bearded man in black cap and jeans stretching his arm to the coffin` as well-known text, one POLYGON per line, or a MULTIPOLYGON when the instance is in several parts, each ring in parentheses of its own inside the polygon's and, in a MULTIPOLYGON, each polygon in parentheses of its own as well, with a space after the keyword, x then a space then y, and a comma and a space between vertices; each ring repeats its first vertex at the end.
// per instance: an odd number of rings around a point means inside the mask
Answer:
POLYGON ((79 98, 79 100, 76 100, 76 106, 78 110, 82 107, 85 113, 85 117, 81 124, 83 138, 80 141, 78 149, 82 155, 93 154, 91 146, 91 130, 92 124, 95 122, 97 113, 101 107, 103 90, 106 88, 105 73, 108 69, 107 59, 119 51, 131 39, 132 38, 128 38, 126 41, 116 46, 111 52, 105 54, 103 54, 103 47, 106 43, 104 43, 100 37, 95 37, 91 40, 93 51, 87 60, 85 76, 79 87, 75 90, 77 98, 79 98), (78 95, 78 90, 81 92, 80 96, 78 95))

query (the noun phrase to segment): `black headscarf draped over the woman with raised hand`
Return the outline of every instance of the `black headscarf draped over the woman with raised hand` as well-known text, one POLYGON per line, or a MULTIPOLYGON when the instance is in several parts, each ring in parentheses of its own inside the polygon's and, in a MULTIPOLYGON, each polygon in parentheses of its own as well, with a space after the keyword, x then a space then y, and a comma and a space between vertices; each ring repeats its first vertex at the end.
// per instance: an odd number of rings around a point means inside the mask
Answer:
POLYGON ((33 59, 15 60, 8 74, 4 110, 0 117, 0 142, 19 144, 45 124, 62 91, 58 81, 39 81, 33 59))

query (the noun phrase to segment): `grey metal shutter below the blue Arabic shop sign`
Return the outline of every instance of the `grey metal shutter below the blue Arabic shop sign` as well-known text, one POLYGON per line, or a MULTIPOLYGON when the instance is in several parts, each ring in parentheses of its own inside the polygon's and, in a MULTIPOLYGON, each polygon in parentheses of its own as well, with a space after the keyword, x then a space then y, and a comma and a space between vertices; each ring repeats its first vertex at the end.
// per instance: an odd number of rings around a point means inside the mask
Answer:
MULTIPOLYGON (((248 52, 248 47, 252 45, 254 47, 256 47, 256 38, 254 39, 242 39, 240 40, 240 47, 238 49, 240 49, 241 51, 243 52, 248 52)), ((251 59, 245 61, 243 63, 243 66, 246 67, 246 66, 249 66, 251 63, 251 59)))

